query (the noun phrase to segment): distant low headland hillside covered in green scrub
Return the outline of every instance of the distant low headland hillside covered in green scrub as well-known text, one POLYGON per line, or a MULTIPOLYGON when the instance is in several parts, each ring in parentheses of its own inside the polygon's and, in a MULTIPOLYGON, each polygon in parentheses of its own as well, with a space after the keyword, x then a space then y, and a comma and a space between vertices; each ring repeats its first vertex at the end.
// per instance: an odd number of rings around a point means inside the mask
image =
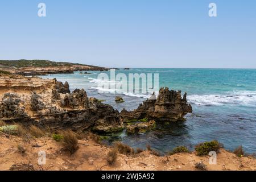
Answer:
MULTIPOLYGON (((72 65, 84 65, 78 63, 66 63, 66 62, 55 62, 49 60, 0 60, 0 66, 5 67, 15 67, 15 68, 23 68, 23 67, 59 67, 59 66, 72 66, 72 65)), ((91 66, 90 67, 96 67, 91 66)))

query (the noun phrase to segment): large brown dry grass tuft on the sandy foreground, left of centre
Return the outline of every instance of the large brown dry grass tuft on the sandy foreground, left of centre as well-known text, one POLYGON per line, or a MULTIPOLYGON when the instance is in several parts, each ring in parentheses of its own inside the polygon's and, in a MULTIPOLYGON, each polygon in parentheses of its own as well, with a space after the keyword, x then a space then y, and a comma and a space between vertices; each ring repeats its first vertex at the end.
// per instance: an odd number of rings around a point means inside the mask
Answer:
POLYGON ((69 152, 71 155, 74 154, 79 148, 77 135, 71 130, 63 131, 62 135, 64 151, 69 152))

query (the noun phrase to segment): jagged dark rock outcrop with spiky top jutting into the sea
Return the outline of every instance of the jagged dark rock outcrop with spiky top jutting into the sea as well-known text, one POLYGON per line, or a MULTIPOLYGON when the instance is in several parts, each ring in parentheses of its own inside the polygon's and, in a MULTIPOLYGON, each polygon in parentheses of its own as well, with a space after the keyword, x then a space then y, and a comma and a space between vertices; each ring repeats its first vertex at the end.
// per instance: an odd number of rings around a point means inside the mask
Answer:
POLYGON ((187 113, 192 113, 192 106, 187 104, 187 93, 181 98, 181 91, 161 88, 156 100, 146 100, 134 111, 121 111, 121 117, 129 119, 155 119, 155 121, 184 121, 187 113))

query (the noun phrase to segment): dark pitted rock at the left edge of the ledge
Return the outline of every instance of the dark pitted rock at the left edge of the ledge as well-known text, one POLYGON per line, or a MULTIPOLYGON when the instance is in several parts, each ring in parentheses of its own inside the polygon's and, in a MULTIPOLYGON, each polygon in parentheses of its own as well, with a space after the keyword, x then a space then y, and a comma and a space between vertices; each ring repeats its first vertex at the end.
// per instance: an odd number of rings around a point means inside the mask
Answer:
POLYGON ((27 114, 20 107, 20 98, 14 93, 5 93, 0 104, 0 118, 22 118, 27 114))

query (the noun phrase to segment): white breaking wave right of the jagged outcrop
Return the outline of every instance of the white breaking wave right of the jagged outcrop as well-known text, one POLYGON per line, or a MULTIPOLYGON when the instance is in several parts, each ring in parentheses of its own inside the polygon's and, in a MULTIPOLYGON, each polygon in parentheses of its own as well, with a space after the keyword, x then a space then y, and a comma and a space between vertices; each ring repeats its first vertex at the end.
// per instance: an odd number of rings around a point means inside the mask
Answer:
POLYGON ((255 91, 227 92, 225 94, 188 95, 188 102, 197 105, 256 106, 255 91))

